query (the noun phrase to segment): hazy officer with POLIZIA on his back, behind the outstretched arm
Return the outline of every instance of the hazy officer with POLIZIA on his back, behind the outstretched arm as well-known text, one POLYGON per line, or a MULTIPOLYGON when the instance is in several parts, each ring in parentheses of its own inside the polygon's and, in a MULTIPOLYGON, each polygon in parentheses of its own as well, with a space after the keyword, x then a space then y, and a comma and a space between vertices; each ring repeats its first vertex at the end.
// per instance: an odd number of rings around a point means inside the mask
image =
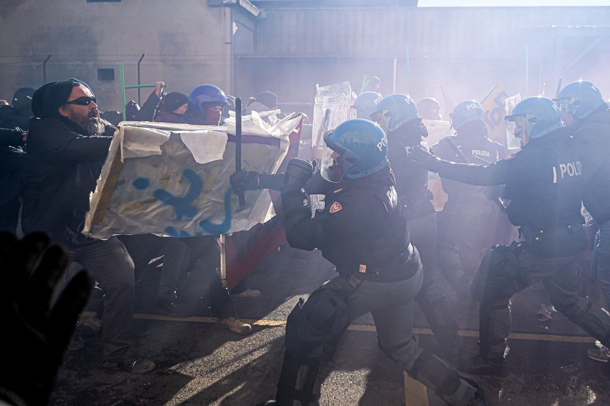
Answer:
MULTIPOLYGON (((492 163, 505 157, 504 147, 487 138, 483 107, 475 100, 459 102, 451 113, 456 135, 441 139, 432 148, 441 159, 461 163, 492 163)), ((439 220, 439 268, 458 296, 468 297, 475 275, 493 232, 493 202, 479 186, 441 179, 447 203, 439 220)))

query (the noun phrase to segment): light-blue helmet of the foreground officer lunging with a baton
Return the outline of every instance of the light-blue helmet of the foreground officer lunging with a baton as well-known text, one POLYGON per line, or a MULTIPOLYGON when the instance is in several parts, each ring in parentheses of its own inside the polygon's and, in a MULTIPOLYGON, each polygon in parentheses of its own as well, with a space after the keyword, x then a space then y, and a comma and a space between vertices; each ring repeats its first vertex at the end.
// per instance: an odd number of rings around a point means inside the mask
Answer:
POLYGON ((324 135, 326 145, 338 153, 336 163, 321 169, 322 176, 337 183, 346 177, 362 178, 384 169, 387 160, 386 133, 375 122, 351 119, 324 135))

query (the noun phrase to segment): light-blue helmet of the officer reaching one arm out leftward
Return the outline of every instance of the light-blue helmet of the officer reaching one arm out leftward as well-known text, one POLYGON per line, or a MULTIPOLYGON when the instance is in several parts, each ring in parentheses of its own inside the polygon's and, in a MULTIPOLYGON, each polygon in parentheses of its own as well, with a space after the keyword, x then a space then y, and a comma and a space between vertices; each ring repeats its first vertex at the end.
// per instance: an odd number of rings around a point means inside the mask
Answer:
POLYGON ((512 114, 504 119, 515 123, 515 137, 521 139, 522 147, 530 139, 540 138, 563 127, 559 109, 547 97, 534 96, 521 100, 512 109, 512 114))

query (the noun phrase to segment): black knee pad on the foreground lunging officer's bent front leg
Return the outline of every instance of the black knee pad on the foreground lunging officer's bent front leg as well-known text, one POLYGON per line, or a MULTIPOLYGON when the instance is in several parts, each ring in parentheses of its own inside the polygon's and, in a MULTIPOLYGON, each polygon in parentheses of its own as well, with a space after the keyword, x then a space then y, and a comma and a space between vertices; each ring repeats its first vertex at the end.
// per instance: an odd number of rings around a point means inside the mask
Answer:
POLYGON ((335 290, 318 288, 290 312, 284 345, 293 356, 306 357, 326 341, 339 340, 349 325, 346 299, 335 290))

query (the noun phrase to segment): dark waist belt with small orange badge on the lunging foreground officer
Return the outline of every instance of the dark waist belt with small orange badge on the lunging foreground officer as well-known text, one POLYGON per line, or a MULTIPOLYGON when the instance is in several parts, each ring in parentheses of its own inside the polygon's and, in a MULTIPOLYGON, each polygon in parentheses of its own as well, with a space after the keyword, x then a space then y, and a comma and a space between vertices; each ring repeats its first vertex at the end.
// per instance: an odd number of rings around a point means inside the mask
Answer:
POLYGON ((398 261, 393 262, 393 264, 397 265, 387 265, 383 268, 361 265, 359 269, 351 269, 351 268, 339 268, 337 267, 337 271, 339 275, 343 276, 345 280, 350 284, 354 289, 356 289, 357 285, 361 284, 364 281, 371 282, 400 282, 405 281, 406 279, 411 278, 415 273, 417 273, 418 267, 415 267, 414 271, 407 271, 405 266, 409 258, 413 255, 413 245, 409 242, 406 248, 404 248, 403 252, 398 256, 398 261), (364 267, 364 272, 361 271, 364 267))

